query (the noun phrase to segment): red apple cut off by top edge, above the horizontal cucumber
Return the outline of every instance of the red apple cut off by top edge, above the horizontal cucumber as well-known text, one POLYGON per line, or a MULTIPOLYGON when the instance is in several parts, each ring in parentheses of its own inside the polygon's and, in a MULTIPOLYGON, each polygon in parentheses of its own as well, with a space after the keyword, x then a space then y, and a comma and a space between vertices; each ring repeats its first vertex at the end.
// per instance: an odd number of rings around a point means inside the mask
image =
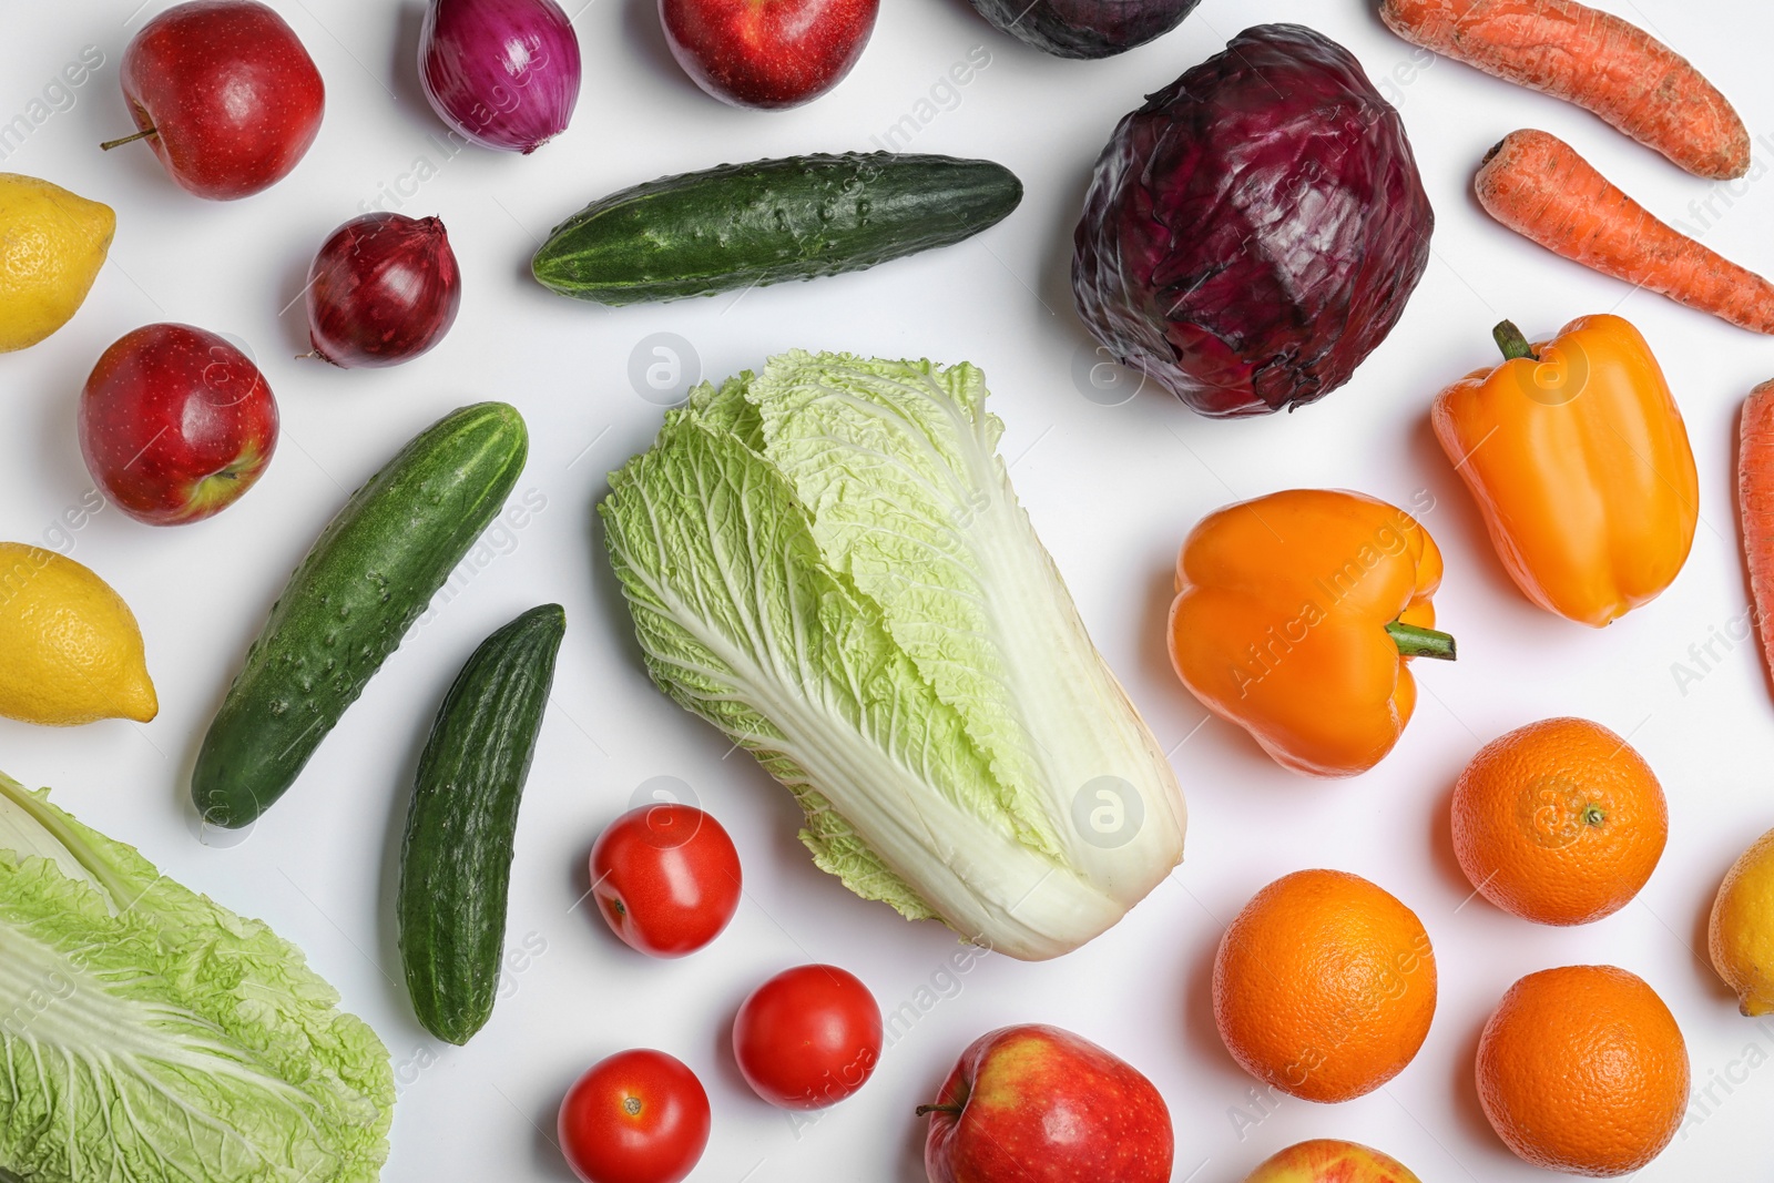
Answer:
POLYGON ((660 0, 672 57, 734 106, 800 106, 862 57, 880 0, 660 0))

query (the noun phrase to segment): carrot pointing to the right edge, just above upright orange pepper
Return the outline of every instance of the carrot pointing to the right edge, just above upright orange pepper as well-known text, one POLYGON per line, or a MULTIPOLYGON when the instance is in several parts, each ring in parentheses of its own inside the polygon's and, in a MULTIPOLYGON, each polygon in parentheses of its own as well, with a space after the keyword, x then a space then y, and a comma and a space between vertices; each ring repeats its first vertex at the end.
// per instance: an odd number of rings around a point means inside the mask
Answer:
POLYGON ((1653 218, 1556 135, 1511 131, 1485 153, 1478 204, 1586 268, 1774 333, 1774 284, 1653 218))

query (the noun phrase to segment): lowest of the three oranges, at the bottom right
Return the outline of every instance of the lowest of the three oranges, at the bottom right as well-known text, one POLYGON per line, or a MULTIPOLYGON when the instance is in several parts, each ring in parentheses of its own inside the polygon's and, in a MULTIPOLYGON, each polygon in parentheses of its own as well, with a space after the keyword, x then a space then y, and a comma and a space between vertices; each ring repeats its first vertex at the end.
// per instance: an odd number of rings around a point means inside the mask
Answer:
POLYGON ((1687 1109, 1687 1045, 1657 991, 1613 965, 1510 986, 1478 1038, 1478 1100, 1510 1149, 1613 1178, 1662 1153, 1687 1109))

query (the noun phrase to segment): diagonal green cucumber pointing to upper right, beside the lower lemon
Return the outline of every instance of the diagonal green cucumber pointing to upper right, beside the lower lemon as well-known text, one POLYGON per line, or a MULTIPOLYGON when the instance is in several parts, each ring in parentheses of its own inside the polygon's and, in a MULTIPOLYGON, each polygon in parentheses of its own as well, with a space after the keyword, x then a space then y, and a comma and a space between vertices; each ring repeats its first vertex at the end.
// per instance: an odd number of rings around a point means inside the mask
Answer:
POLYGON ((426 427, 351 495, 289 576, 204 736, 192 802, 250 825, 294 784, 523 472, 529 433, 504 403, 426 427))

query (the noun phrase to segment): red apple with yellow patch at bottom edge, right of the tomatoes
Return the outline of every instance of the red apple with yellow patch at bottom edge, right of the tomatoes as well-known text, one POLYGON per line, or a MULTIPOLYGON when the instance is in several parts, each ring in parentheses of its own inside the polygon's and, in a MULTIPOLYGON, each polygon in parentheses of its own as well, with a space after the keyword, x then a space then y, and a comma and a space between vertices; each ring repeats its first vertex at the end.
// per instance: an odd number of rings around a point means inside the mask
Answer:
POLYGON ((930 1183, 1169 1183, 1171 1112, 1151 1082, 1057 1027, 974 1039, 930 1114, 930 1183))

